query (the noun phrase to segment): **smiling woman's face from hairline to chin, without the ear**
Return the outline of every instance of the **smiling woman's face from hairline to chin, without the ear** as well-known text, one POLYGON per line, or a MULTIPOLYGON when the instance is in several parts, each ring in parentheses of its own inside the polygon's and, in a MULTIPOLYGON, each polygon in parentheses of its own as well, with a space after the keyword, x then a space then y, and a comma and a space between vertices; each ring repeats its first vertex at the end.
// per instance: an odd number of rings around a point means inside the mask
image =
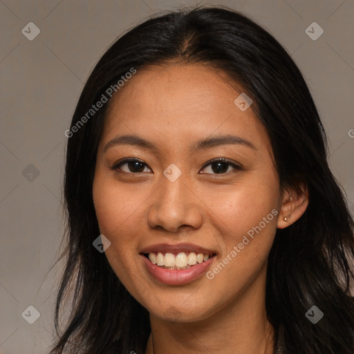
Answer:
POLYGON ((264 296, 279 178, 252 106, 234 103, 241 92, 210 68, 150 66, 110 102, 93 183, 97 220, 115 274, 160 319, 206 319, 245 294, 264 296), (230 163, 210 162, 218 158, 230 163))

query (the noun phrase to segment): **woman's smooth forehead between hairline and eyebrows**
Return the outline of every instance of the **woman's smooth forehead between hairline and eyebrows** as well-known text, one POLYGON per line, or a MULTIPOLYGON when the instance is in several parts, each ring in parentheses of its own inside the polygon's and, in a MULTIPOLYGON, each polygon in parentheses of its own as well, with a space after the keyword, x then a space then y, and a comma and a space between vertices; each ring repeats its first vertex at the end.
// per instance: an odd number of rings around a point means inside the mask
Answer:
POLYGON ((149 66, 138 70, 109 102, 102 139, 118 133, 153 134, 181 144, 237 133, 258 147, 269 145, 252 106, 241 111, 234 103, 241 93, 241 86, 206 66, 149 66))

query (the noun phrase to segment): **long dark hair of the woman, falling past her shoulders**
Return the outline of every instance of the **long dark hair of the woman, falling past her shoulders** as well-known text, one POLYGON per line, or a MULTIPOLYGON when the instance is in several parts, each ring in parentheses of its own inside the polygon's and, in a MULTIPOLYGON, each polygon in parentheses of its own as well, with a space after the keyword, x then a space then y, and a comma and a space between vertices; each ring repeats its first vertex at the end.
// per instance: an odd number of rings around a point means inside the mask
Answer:
POLYGON ((84 124, 78 122, 131 68, 138 75, 151 64, 194 63, 219 69, 243 87, 268 131, 281 187, 308 188, 306 212, 277 230, 269 254, 266 310, 276 347, 283 354, 353 354, 353 218, 328 167, 326 134, 317 109, 279 42, 225 7, 185 8, 144 21, 116 40, 88 77, 67 145, 66 268, 55 309, 58 339, 50 353, 99 354, 114 343, 117 353, 144 353, 149 313, 92 245, 100 234, 93 174, 109 101, 84 124), (71 313, 61 331, 59 317, 69 297, 71 313), (312 306, 324 313, 317 324, 305 315, 312 306))

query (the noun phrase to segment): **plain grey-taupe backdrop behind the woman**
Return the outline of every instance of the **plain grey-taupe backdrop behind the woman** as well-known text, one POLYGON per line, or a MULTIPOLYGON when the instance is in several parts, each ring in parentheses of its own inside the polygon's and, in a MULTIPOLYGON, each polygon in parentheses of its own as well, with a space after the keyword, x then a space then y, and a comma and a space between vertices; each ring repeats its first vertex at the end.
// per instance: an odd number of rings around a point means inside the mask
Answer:
MULTIPOLYGON (((50 268, 63 232, 64 131, 89 73, 122 31, 158 10, 195 3, 0 0, 0 353, 48 353, 52 343, 61 266, 50 268), (41 31, 32 41, 21 32, 31 21, 41 31), (40 313, 34 324, 25 320, 33 310, 21 315, 30 305, 40 313)), ((353 212, 353 0, 199 3, 244 12, 295 59, 353 212), (305 32, 314 21, 324 30, 317 40, 305 32)))

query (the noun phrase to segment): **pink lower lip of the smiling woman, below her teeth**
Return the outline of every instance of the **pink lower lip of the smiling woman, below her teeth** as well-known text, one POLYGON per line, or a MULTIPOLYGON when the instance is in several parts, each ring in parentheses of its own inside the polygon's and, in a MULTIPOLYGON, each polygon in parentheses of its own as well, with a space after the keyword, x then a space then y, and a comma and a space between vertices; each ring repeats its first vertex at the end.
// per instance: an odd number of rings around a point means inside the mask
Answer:
POLYGON ((158 265, 151 263, 151 261, 143 254, 140 254, 140 257, 142 257, 145 262, 146 268, 150 274, 152 274, 153 277, 161 283, 165 283, 167 285, 183 285, 191 283, 207 271, 215 258, 214 256, 209 258, 207 261, 203 261, 202 263, 196 263, 196 265, 193 265, 191 268, 178 270, 160 268, 158 265))

